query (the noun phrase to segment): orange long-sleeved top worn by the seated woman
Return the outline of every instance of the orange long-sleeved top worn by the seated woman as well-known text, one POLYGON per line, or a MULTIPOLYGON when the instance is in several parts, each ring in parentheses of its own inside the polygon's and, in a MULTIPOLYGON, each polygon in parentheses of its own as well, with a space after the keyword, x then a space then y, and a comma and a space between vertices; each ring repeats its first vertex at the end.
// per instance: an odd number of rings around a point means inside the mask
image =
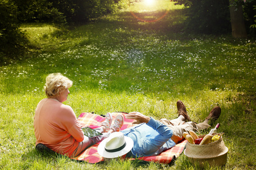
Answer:
POLYGON ((51 150, 71 156, 84 133, 71 107, 56 99, 43 99, 35 110, 36 145, 43 143, 51 150))

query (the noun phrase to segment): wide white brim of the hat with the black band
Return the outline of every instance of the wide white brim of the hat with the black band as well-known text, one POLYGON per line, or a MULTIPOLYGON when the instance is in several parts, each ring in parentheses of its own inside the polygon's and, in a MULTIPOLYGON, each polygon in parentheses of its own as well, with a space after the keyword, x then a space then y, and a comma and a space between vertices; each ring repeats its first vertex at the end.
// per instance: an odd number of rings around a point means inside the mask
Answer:
POLYGON ((119 156, 123 156, 125 154, 127 154, 131 148, 133 148, 133 139, 129 138, 129 137, 125 137, 125 142, 126 142, 126 146, 121 150, 121 151, 117 151, 117 152, 107 152, 105 150, 105 145, 107 142, 107 139, 104 139, 100 145, 98 145, 98 154, 100 154, 102 157, 104 158, 117 158, 119 156))

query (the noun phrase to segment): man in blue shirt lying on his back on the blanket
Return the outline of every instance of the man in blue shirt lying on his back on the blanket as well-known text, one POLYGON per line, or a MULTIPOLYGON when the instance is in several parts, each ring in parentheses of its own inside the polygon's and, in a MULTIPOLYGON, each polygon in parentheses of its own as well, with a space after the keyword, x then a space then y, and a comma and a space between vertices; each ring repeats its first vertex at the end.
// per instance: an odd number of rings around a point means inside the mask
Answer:
MULTIPOLYGON (((209 128, 209 120, 217 120, 221 113, 220 107, 214 107, 209 113, 209 116, 205 118, 204 122, 195 124, 195 122, 190 120, 185 105, 180 100, 177 101, 177 110, 178 118, 171 121, 168 121, 165 118, 156 121, 154 118, 144 116, 139 112, 131 112, 127 114, 125 117, 136 120, 134 124, 138 125, 121 131, 125 137, 131 138, 134 142, 134 146, 127 152, 126 157, 138 158, 141 156, 156 156, 160 154, 160 152, 174 147, 177 143, 183 140, 184 131, 209 128)), ((110 136, 112 137, 112 135, 110 136)), ((113 150, 108 149, 109 146, 110 148, 112 146, 110 143, 109 138, 104 139, 98 146, 98 153, 104 158, 122 156, 120 152, 122 149, 114 148, 114 146, 113 150), (117 154, 114 154, 114 152, 117 154)))

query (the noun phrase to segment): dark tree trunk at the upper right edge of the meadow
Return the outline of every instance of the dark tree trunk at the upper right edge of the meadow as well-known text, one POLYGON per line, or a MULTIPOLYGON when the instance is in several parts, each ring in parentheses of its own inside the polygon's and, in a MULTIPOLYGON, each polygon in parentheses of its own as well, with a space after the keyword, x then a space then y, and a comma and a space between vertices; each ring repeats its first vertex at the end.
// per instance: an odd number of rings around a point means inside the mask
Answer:
POLYGON ((235 38, 246 38, 246 28, 245 19, 243 18, 243 8, 242 5, 234 6, 234 1, 229 1, 229 11, 230 11, 230 22, 232 27, 232 36, 235 38))

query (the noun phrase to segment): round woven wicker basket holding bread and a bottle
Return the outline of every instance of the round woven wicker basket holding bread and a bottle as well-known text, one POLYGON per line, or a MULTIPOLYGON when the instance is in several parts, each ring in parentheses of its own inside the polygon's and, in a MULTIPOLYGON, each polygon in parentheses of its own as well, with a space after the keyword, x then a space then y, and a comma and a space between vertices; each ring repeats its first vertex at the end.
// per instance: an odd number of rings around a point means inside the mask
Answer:
MULTIPOLYGON (((200 135, 199 138, 204 138, 204 136, 205 135, 200 135)), ((187 142, 184 155, 187 156, 190 162, 197 162, 200 165, 204 165, 205 162, 208 162, 209 165, 212 166, 222 166, 226 164, 228 150, 221 136, 218 141, 207 145, 195 145, 187 142)))

